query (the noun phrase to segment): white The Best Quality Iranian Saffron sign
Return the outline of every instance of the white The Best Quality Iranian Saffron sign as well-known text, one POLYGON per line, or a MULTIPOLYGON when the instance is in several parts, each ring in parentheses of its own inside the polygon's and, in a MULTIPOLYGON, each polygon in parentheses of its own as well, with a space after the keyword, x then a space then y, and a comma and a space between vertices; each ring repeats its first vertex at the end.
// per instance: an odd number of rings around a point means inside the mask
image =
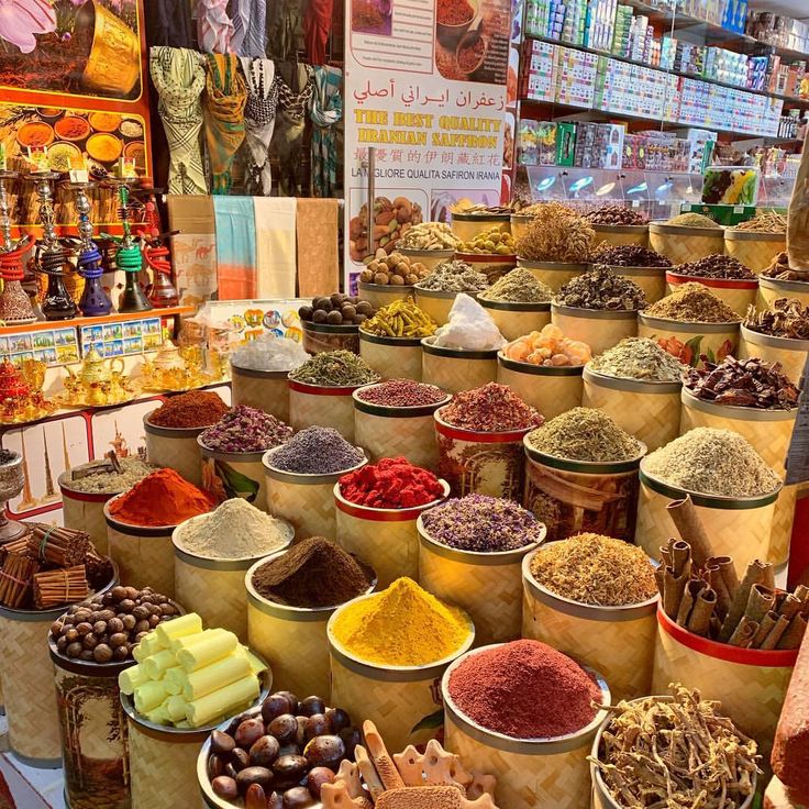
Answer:
POLYGON ((419 222, 500 200, 510 0, 346 0, 346 286, 419 222), (368 149, 375 148, 373 224, 368 149))

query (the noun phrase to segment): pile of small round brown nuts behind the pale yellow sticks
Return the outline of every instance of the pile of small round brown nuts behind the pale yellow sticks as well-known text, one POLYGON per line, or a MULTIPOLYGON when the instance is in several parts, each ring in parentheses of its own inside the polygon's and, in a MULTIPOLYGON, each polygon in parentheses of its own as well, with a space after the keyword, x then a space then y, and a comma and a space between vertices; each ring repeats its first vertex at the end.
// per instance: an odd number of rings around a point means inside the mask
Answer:
POLYGON ((51 627, 56 651, 66 657, 95 663, 132 658, 132 650, 158 623, 179 610, 151 587, 113 587, 89 601, 74 605, 51 627))

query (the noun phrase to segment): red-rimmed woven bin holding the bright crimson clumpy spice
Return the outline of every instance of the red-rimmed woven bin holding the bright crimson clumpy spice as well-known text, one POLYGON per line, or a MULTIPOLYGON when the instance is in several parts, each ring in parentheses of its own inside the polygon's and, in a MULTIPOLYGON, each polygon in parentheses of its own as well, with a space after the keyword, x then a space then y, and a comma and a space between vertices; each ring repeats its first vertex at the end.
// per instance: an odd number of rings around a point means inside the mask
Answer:
POLYGON ((415 523, 422 512, 442 503, 450 496, 446 480, 439 483, 443 494, 437 500, 409 509, 358 506, 343 497, 340 483, 334 484, 337 544, 376 570, 381 589, 401 576, 418 579, 419 532, 415 523))

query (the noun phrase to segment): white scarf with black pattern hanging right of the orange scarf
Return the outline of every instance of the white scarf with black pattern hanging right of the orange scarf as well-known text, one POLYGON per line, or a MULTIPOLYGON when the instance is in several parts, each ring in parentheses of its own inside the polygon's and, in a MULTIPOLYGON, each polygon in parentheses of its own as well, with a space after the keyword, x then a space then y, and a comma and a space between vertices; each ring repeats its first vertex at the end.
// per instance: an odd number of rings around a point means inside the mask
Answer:
POLYGON ((242 70, 247 84, 247 104, 244 108, 244 129, 248 195, 269 197, 273 171, 269 165, 269 143, 275 130, 278 106, 278 82, 270 59, 242 57, 242 70))

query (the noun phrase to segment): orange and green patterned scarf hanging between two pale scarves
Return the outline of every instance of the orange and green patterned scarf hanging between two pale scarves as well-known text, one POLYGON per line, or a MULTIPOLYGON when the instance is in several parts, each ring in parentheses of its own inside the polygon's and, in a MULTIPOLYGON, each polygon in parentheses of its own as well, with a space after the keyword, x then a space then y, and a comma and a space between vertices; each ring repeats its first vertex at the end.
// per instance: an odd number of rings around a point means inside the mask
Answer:
POLYGON ((233 158, 244 141, 247 90, 233 54, 208 54, 206 81, 206 143, 211 162, 211 193, 228 193, 233 186, 233 158))

